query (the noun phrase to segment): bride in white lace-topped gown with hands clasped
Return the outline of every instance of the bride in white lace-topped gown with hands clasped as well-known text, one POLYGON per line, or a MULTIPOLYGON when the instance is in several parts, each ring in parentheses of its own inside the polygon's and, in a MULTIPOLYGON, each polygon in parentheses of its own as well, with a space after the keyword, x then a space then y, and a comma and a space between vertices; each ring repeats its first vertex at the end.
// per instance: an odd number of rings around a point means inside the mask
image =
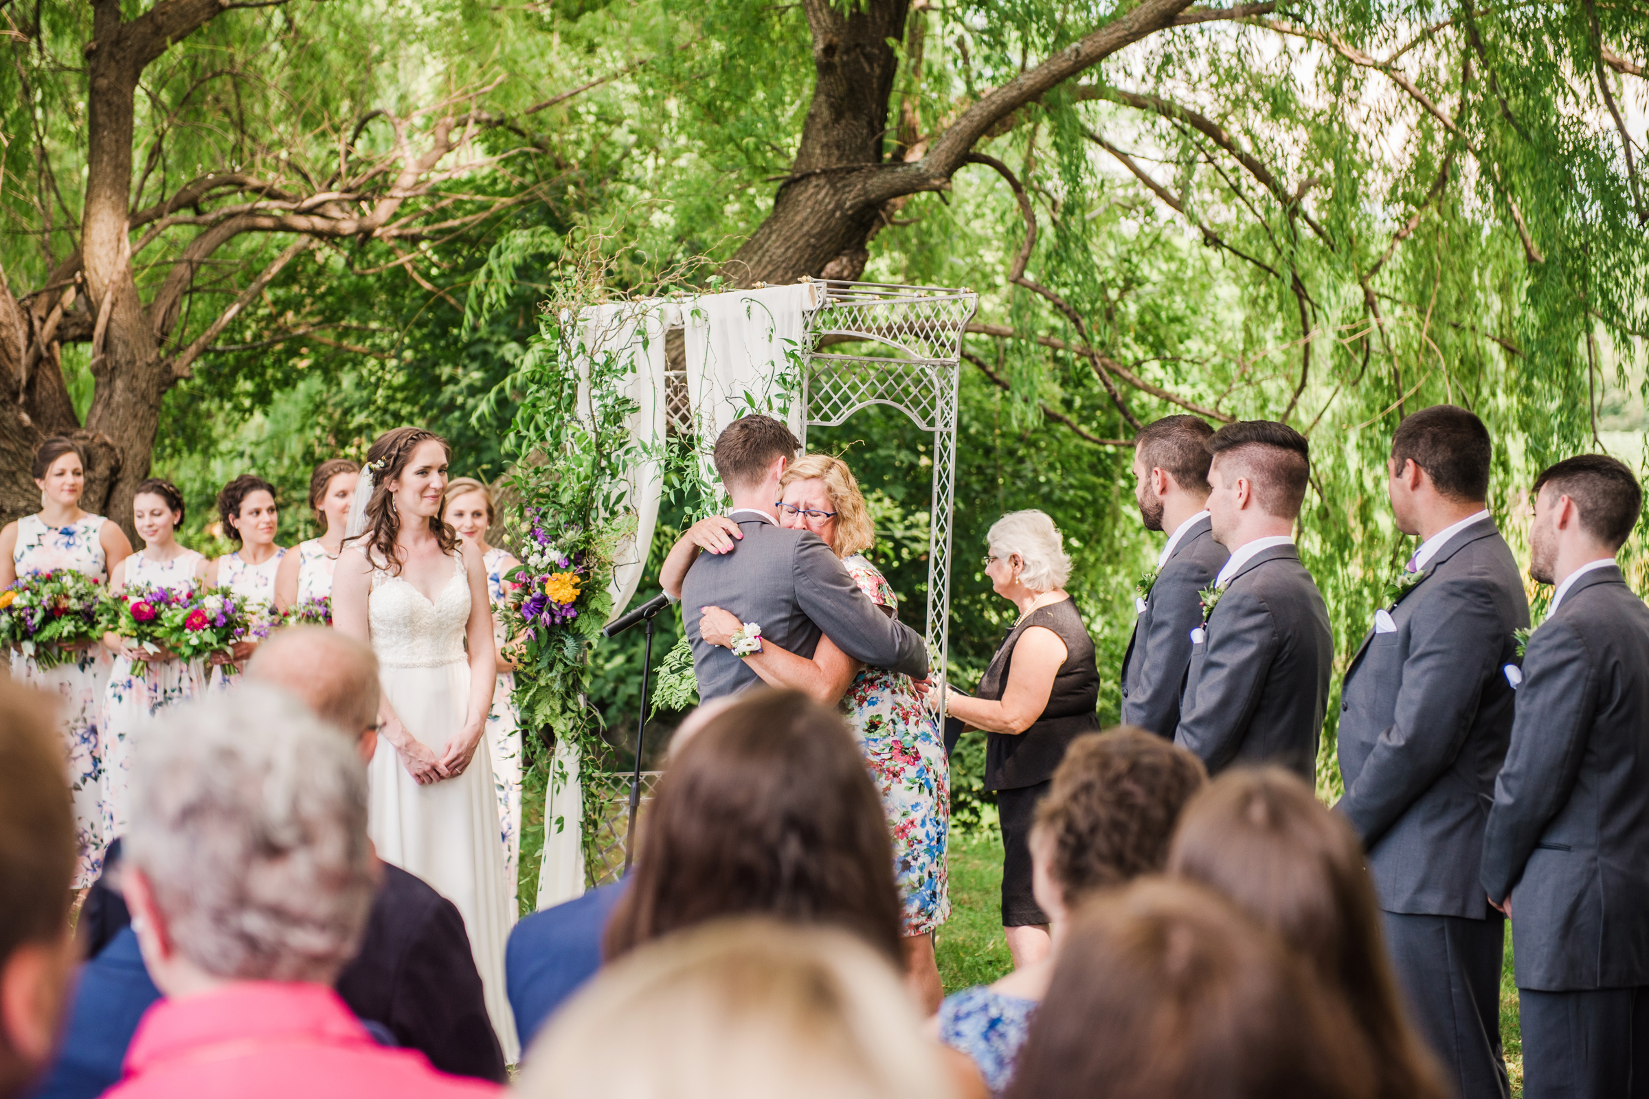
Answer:
POLYGON ((493 700, 486 568, 440 521, 445 440, 401 427, 381 435, 366 460, 373 491, 364 531, 338 557, 331 621, 378 654, 383 700, 368 766, 368 832, 379 858, 458 906, 486 1012, 514 1064, 519 1041, 505 992, 513 913, 491 765, 477 751, 493 700))

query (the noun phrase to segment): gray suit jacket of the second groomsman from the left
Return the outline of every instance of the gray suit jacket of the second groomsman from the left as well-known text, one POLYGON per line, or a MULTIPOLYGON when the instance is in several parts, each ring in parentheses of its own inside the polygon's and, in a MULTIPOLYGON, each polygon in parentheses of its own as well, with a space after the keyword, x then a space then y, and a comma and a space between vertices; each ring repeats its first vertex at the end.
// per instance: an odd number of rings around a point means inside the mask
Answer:
POLYGON ((1209 774, 1278 763, 1311 781, 1334 664, 1322 595, 1293 545, 1260 550, 1225 585, 1191 669, 1174 743, 1209 774))

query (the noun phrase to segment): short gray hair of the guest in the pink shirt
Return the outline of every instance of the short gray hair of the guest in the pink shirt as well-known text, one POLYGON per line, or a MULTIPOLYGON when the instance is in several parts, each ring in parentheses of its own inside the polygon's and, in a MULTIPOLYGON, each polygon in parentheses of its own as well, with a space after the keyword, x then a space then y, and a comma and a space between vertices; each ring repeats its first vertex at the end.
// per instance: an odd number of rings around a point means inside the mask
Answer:
POLYGON ((282 690, 242 684, 140 733, 125 844, 213 975, 330 984, 355 956, 378 877, 366 768, 282 690))

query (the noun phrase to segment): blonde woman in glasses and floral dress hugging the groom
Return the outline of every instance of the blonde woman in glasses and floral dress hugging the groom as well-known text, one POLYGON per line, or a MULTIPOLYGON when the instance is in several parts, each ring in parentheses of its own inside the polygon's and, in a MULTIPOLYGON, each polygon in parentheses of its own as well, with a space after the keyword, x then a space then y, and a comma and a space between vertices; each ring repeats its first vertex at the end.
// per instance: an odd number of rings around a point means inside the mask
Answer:
MULTIPOLYGON (((859 590, 884 613, 897 616, 899 600, 887 577, 864 557, 876 542, 871 511, 853 471, 829 455, 803 455, 778 481, 778 522, 811 531, 841 559, 859 590)), ((666 559, 660 583, 681 593, 683 578, 706 540, 732 545, 739 527, 714 517, 694 526, 666 559)), ((719 606, 706 606, 699 629, 709 644, 731 649, 742 623, 719 606)), ((871 778, 882 797, 887 830, 894 840, 894 875, 904 898, 905 972, 923 1007, 935 1010, 943 995, 933 957, 933 931, 950 918, 950 873, 945 840, 950 829, 950 763, 945 737, 923 705, 909 676, 864 667, 828 636, 813 657, 790 652, 772 641, 742 656, 773 687, 806 692, 824 705, 839 707, 859 741, 871 778)))

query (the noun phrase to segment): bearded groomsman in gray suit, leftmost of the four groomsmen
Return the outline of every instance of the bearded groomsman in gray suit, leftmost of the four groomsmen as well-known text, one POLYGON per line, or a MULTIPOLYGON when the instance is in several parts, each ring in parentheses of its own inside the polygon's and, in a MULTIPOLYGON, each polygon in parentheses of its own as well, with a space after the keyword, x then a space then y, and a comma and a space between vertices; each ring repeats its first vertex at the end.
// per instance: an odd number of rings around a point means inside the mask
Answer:
POLYGON ((1135 501, 1146 531, 1172 531, 1156 570, 1135 592, 1135 631, 1123 656, 1123 725, 1172 738, 1191 667, 1191 631, 1202 623, 1197 592, 1230 552, 1209 521, 1209 437, 1194 415, 1169 415, 1135 435, 1135 501))

